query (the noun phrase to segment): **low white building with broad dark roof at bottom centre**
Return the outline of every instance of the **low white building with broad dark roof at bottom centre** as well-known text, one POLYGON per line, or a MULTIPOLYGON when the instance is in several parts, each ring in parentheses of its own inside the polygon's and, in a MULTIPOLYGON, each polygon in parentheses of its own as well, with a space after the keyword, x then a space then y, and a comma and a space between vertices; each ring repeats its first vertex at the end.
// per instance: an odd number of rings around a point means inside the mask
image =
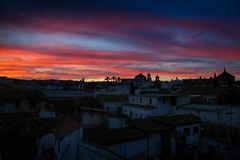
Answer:
POLYGON ((101 148, 108 149, 123 159, 149 157, 148 148, 150 145, 154 146, 155 143, 159 143, 157 140, 159 140, 158 137, 148 137, 145 133, 131 128, 86 133, 85 139, 85 141, 95 143, 101 148))

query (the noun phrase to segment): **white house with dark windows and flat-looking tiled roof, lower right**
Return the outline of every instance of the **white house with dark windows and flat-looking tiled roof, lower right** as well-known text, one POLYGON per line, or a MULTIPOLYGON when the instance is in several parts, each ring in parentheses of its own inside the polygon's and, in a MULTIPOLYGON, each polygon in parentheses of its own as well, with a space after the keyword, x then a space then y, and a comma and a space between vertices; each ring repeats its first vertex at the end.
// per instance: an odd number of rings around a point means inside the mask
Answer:
POLYGON ((177 156, 193 146, 199 145, 200 138, 200 119, 192 114, 161 116, 151 118, 154 122, 171 128, 168 135, 164 135, 163 141, 166 141, 163 148, 170 150, 171 156, 177 156))

